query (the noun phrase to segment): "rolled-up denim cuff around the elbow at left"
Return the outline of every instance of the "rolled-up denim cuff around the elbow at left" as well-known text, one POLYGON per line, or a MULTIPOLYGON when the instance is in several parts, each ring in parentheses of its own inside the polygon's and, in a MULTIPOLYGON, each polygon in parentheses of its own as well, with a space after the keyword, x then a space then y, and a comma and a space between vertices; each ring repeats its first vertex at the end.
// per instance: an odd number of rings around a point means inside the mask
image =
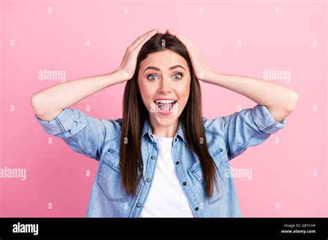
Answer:
POLYGON ((57 115, 57 117, 51 119, 51 121, 43 121, 42 119, 39 119, 37 115, 35 115, 35 118, 41 124, 44 132, 55 135, 64 133, 71 129, 74 122, 74 114, 75 111, 72 108, 65 108, 57 115))

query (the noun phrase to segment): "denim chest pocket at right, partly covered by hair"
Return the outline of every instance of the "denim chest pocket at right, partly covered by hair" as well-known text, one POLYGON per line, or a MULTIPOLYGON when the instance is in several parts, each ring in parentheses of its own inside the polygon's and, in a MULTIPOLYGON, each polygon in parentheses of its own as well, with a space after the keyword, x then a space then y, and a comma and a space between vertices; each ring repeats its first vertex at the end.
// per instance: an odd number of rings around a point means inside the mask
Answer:
MULTIPOLYGON (((211 157, 215 161, 215 165, 217 166, 215 170, 215 176, 217 178, 217 187, 215 186, 215 183, 213 182, 213 193, 212 197, 208 199, 208 202, 210 204, 216 203, 219 201, 222 197, 224 197, 224 192, 226 189, 226 171, 229 168, 227 163, 227 154, 224 152, 223 148, 218 148, 214 152, 212 152, 211 157)), ((206 190, 205 181, 203 179, 203 171, 201 170, 200 164, 197 164, 196 166, 193 166, 190 169, 190 172, 192 175, 201 183, 201 186, 203 187, 203 190, 206 190)))

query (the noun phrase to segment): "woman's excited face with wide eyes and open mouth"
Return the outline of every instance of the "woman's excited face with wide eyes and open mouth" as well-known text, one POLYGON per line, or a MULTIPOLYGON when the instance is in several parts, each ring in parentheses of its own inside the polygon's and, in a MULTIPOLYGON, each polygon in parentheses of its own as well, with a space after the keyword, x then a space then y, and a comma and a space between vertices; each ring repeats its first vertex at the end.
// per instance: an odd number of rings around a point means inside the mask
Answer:
POLYGON ((152 125, 176 124, 189 97, 187 61, 172 50, 153 52, 140 63, 138 84, 152 125))

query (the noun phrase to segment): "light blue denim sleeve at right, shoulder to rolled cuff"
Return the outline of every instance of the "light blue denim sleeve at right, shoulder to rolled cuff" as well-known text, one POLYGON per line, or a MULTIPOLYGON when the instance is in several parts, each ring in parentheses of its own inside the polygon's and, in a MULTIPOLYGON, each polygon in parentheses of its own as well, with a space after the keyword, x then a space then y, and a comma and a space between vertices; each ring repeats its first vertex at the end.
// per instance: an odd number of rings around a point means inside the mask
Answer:
POLYGON ((213 119, 215 132, 224 139, 229 161, 248 147, 263 143, 271 134, 286 126, 286 119, 278 122, 264 105, 257 104, 226 117, 213 119))

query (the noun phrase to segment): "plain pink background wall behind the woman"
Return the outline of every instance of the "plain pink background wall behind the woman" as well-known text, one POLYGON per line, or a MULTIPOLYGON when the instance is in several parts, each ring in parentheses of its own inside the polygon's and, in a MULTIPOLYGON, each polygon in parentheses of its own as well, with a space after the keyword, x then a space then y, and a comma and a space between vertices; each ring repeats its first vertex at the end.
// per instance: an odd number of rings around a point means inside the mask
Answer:
MULTIPOLYGON (((0 168, 26 168, 26 181, 0 178, 0 216, 85 216, 98 161, 39 126, 30 97, 60 80, 39 80, 38 72, 65 70, 66 81, 112 72, 125 48, 156 27, 185 34, 217 72, 261 79, 269 68, 291 72, 289 82, 268 80, 299 93, 286 128, 230 161, 253 171, 250 181, 235 178, 242 216, 327 217, 327 1, 1 1, 0 168)), ((124 87, 72 108, 122 117, 124 87)), ((219 86, 201 87, 207 118, 256 104, 219 86)))

